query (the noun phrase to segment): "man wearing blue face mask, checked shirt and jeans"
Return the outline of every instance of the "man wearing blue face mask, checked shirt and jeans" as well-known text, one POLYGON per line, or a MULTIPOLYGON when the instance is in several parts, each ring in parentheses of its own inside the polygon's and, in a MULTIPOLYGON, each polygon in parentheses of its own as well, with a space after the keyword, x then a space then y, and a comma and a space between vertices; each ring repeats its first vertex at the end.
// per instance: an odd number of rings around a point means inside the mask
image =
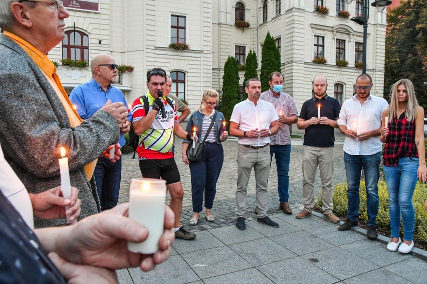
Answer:
POLYGON ((271 102, 279 115, 279 131, 270 136, 270 163, 276 158, 279 209, 292 214, 289 206, 289 160, 291 158, 291 125, 298 120, 298 111, 293 98, 283 92, 283 75, 273 72, 269 78, 270 88, 261 94, 261 99, 271 102))

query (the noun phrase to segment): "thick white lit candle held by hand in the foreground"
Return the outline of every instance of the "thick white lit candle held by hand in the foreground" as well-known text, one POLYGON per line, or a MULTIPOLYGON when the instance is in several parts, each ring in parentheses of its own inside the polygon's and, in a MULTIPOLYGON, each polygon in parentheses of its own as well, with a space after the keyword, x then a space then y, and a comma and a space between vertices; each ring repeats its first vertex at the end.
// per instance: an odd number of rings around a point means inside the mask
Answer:
POLYGON ((148 238, 143 242, 128 242, 132 252, 154 253, 164 229, 164 206, 166 180, 132 178, 130 183, 129 218, 148 229, 148 238))

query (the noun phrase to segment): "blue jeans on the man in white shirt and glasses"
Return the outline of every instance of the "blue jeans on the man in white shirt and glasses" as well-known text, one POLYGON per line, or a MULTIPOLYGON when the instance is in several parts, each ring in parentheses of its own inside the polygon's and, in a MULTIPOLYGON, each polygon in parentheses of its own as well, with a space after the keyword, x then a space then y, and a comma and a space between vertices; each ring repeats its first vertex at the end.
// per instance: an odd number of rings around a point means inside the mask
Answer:
POLYGON ((344 152, 345 173, 347 175, 347 199, 348 211, 347 218, 352 221, 359 219, 359 187, 360 175, 363 167, 365 172, 366 184, 366 206, 368 212, 367 226, 376 227, 376 215, 378 214, 378 178, 379 178, 379 162, 381 160, 381 152, 372 155, 350 155, 344 152))

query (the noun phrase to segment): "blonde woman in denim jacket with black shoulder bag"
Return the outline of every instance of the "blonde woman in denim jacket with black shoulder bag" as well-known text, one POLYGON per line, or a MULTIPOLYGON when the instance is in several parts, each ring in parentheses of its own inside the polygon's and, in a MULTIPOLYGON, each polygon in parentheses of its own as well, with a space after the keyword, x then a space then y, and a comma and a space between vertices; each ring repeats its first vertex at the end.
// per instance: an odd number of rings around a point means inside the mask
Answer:
POLYGON ((223 131, 224 114, 215 110, 219 98, 220 94, 216 90, 205 90, 201 97, 200 106, 188 118, 187 131, 192 132, 193 127, 195 127, 198 141, 203 141, 214 114, 218 112, 204 142, 202 159, 200 161, 188 161, 185 152, 188 147, 191 147, 190 141, 182 141, 182 161, 185 164, 189 164, 191 173, 193 217, 190 220, 190 225, 198 223, 199 213, 202 210, 203 193, 204 216, 209 222, 215 220, 215 217, 211 214, 211 208, 217 193, 217 181, 224 162, 224 150, 221 143, 229 135, 229 132, 223 131))

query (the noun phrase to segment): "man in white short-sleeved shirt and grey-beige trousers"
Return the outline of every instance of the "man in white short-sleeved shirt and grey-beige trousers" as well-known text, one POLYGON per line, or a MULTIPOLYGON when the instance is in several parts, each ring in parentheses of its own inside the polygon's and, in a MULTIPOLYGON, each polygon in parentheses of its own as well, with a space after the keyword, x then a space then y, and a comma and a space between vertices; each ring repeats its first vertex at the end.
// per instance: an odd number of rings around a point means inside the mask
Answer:
POLYGON ((236 226, 244 230, 246 194, 249 176, 255 168, 256 202, 261 223, 278 227, 267 216, 267 180, 270 173, 270 135, 279 130, 276 109, 273 104, 260 99, 261 81, 250 78, 246 81, 248 98, 234 106, 230 118, 230 134, 239 137, 237 154, 236 226))

